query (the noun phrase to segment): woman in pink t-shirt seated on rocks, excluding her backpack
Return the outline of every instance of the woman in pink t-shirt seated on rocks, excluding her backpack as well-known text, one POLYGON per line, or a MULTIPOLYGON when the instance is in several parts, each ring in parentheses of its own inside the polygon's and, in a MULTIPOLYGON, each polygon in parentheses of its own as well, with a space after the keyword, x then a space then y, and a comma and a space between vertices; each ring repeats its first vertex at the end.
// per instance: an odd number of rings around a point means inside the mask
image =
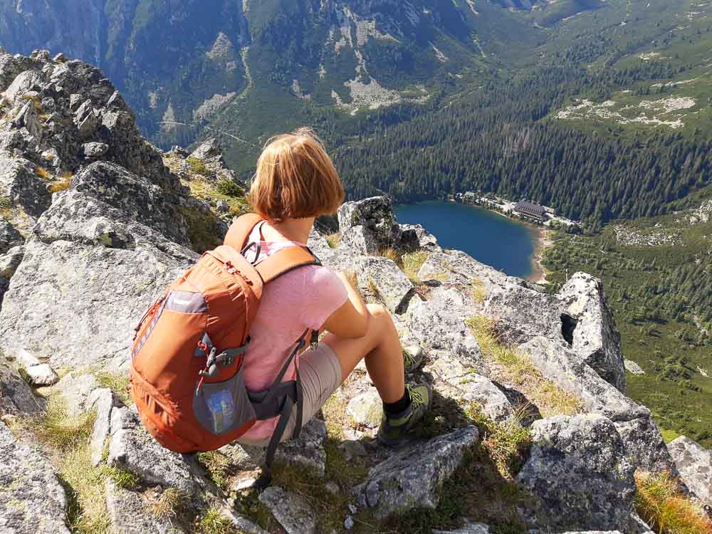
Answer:
MULTIPOLYGON (((268 142, 248 199, 266 221, 250 238, 260 245, 258 258, 250 259, 261 261, 285 247, 306 246, 315 218, 334 214, 344 199, 344 189, 323 144, 310 130, 302 129, 268 142)), ((407 431, 422 419, 432 399, 429 387, 405 384, 404 372, 417 368, 422 356, 404 362, 388 311, 382 305, 366 305, 344 274, 324 266, 303 266, 264 288, 252 323, 250 355, 244 363, 247 389, 260 391, 273 383, 294 340, 305 329, 328 334, 303 352, 284 377, 295 379, 298 366, 303 424, 365 360, 383 401, 379 443, 398 446, 407 441, 407 431)), ((297 413, 292 411, 282 439, 292 436, 297 413)), ((258 421, 238 441, 266 446, 276 424, 277 418, 258 421)))

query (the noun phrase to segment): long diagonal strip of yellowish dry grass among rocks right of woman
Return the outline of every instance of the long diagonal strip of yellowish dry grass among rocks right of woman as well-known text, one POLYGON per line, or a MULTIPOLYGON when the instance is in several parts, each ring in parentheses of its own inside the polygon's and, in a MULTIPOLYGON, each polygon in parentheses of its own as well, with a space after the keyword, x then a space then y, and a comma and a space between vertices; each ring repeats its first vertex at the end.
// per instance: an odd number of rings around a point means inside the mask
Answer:
POLYGON ((511 382, 538 407, 543 417, 583 412, 581 400, 545 378, 526 355, 501 342, 491 319, 473 315, 466 320, 482 354, 501 368, 502 379, 511 382))

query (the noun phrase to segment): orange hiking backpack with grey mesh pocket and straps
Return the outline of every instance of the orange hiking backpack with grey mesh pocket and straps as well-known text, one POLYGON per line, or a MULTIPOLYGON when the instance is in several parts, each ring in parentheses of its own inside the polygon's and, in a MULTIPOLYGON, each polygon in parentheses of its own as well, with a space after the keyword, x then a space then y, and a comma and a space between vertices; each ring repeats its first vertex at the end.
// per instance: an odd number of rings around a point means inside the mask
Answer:
MULTIPOLYGON (((259 242, 248 243, 259 216, 241 216, 225 244, 203 254, 145 313, 132 349, 131 397, 146 429, 172 451, 214 451, 242 436, 258 420, 280 416, 267 450, 267 467, 294 406, 298 436, 302 420, 297 379, 282 382, 300 337, 271 387, 245 387, 242 367, 249 357, 250 326, 263 286, 295 268, 320 265, 306 247, 288 247, 260 263, 245 257, 259 242)), ((311 333, 310 342, 318 340, 311 333)))

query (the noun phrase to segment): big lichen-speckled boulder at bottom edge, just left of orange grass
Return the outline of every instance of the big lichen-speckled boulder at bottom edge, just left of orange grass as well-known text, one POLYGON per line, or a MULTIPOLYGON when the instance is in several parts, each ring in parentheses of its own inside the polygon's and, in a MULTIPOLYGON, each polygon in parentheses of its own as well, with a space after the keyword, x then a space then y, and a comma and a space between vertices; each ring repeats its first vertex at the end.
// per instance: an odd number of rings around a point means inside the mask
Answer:
POLYGON ((541 419, 518 481, 538 500, 537 524, 551 530, 627 530, 634 468, 609 419, 600 415, 541 419))

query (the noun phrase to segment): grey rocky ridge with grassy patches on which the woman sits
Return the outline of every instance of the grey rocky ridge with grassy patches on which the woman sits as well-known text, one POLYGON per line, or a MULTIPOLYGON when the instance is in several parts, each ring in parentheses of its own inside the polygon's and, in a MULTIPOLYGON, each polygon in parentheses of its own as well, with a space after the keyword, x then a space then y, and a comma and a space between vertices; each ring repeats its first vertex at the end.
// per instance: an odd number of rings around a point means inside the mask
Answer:
POLYGON ((365 298, 393 314, 404 347, 424 351, 409 380, 432 384, 436 402, 414 441, 399 451, 375 444, 381 407, 362 367, 281 447, 275 483, 259 496, 261 449, 162 449, 125 395, 132 330, 197 258, 196 224, 211 221, 201 229, 217 236, 226 229, 234 207, 221 211, 204 187, 234 176, 211 142, 190 156, 145 142, 110 82, 84 63, 5 54, 0 81, 1 528, 75 530, 70 498, 87 514, 90 501, 68 482, 66 463, 85 451, 103 531, 202 532, 211 520, 248 533, 370 532, 372 522, 427 511, 436 515, 423 521, 441 531, 488 532, 491 523, 496 532, 496 512, 442 513, 467 502, 454 488, 479 493, 481 481, 463 473, 496 431, 525 436, 500 481, 525 496, 507 511, 523 532, 649 532, 634 508, 637 469, 679 471, 708 501, 708 466, 690 460, 693 445, 666 447, 649 410, 625 396, 600 281, 576 273, 550 295, 398 224, 385 197, 345 204, 340 244, 315 232, 310 247, 356 273, 365 298), (47 425, 57 407, 64 424, 85 429, 72 454, 39 431, 56 428, 47 425))

